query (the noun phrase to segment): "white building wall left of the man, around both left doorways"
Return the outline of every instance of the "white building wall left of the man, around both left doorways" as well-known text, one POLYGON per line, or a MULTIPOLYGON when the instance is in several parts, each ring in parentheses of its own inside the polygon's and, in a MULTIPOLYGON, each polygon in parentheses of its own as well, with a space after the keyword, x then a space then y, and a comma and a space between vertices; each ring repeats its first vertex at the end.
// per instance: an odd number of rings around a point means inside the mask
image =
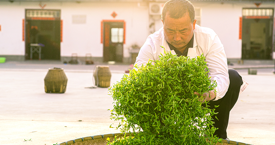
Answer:
POLYGON ((137 2, 31 2, 0 1, 0 55, 25 55, 23 38, 23 19, 25 9, 61 10, 63 21, 63 42, 60 44, 61 57, 77 53, 84 57, 91 53, 93 57, 103 57, 101 43, 102 20, 124 20, 125 44, 124 57, 130 57, 128 48, 133 44, 142 46, 148 37, 148 6, 137 2), (117 13, 113 18, 111 14, 117 13), (86 23, 72 23, 73 15, 86 15, 86 23))

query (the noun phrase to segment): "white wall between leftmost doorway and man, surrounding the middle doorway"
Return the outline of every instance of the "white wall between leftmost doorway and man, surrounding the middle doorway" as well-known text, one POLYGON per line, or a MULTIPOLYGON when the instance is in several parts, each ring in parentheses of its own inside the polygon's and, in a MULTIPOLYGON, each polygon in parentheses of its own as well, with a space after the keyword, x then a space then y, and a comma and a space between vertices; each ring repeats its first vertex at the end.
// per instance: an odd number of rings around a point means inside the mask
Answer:
POLYGON ((80 56, 91 53, 94 57, 103 57, 103 44, 100 43, 101 21, 124 20, 126 23, 124 57, 129 57, 128 48, 133 44, 141 46, 147 38, 149 27, 147 10, 147 7, 138 7, 137 3, 63 3, 61 56, 70 56, 71 53, 78 52, 80 56), (117 13, 115 18, 111 16, 113 12, 117 13), (74 24, 72 15, 86 15, 87 22, 74 24))

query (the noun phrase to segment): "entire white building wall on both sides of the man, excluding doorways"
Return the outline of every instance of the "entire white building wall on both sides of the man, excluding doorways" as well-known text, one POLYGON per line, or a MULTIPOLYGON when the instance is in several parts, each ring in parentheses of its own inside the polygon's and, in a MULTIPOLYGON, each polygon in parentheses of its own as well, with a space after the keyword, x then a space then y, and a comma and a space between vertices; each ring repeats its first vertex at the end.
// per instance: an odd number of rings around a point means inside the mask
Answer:
MULTIPOLYGON (((201 26, 212 28, 224 45, 228 58, 241 58, 241 39, 239 39, 239 19, 242 8, 256 8, 252 2, 239 1, 191 1, 202 9, 201 26)), ((133 44, 142 46, 150 34, 149 13, 146 4, 137 2, 33 2, 0 1, 0 55, 25 55, 25 42, 22 40, 25 9, 61 10, 63 21, 63 42, 61 57, 77 53, 84 57, 91 53, 93 57, 103 57, 101 41, 102 20, 124 20, 126 38, 124 57, 129 57, 128 48, 133 44), (116 18, 111 16, 115 11, 116 18), (86 15, 86 23, 72 23, 73 15, 86 15)), ((259 8, 274 8, 274 3, 263 2, 259 8)), ((156 20, 155 30, 162 27, 156 20)))

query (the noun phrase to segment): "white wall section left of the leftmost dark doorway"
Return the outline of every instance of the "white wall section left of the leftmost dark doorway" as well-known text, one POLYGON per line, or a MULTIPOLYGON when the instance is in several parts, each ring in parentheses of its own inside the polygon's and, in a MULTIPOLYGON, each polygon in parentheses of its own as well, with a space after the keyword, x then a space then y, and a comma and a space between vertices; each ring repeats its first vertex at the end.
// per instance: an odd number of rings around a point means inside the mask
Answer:
POLYGON ((25 55, 24 17, 19 2, 0 1, 0 55, 25 55))

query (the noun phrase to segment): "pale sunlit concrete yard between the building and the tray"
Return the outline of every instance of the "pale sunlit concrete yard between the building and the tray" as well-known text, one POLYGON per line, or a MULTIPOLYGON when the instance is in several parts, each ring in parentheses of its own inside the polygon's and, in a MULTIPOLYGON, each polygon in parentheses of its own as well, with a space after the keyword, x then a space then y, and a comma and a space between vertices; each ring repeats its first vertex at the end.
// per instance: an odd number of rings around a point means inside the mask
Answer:
MULTIPOLYGON (((105 64, 106 65, 106 64, 105 64)), ((92 135, 118 133, 109 119, 113 100, 108 88, 93 86, 95 65, 59 61, 23 61, 0 64, 0 144, 52 145, 92 135), (64 68, 64 94, 44 91, 47 68, 64 68), (81 120, 81 121, 80 121, 81 120)), ((128 65, 109 65, 111 84, 120 81, 128 65)), ((230 112, 228 138, 247 144, 275 145, 274 61, 233 64, 250 83, 230 112), (239 67, 239 68, 238 68, 239 67), (247 68, 257 68, 248 75, 247 68)))

